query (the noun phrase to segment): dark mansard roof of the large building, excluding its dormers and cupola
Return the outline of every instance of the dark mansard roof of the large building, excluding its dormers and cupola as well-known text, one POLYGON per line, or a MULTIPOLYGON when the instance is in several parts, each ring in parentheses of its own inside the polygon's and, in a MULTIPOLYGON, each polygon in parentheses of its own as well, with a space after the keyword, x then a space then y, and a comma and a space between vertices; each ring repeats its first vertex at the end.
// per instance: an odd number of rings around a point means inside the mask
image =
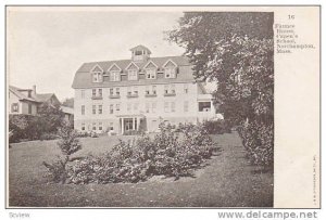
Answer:
POLYGON ((146 62, 137 62, 137 66, 140 70, 143 70, 143 67, 149 63, 153 62, 160 72, 164 69, 164 65, 167 64, 170 61, 175 63, 178 67, 178 75, 177 78, 158 78, 158 79, 139 79, 133 81, 103 81, 103 82, 92 82, 91 80, 91 73, 90 70, 93 66, 99 65, 102 69, 108 69, 115 64, 122 69, 122 74, 127 72, 126 68, 133 62, 131 60, 120 60, 120 61, 102 61, 102 62, 90 62, 84 63, 79 69, 75 74, 75 78, 73 81, 73 88, 93 88, 93 87, 112 87, 112 86, 133 86, 133 85, 151 85, 151 83, 168 83, 168 82, 191 82, 193 81, 192 76, 192 65, 190 64, 188 57, 186 56, 164 56, 164 57, 150 57, 146 62))

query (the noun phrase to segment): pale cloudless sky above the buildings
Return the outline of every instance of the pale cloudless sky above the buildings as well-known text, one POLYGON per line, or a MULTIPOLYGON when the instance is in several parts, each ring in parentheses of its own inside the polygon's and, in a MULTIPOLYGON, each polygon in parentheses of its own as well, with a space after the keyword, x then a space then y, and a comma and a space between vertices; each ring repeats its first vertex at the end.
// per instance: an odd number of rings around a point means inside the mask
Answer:
POLYGON ((74 96, 74 75, 85 62, 130 59, 129 49, 138 44, 149 48, 152 56, 185 52, 164 39, 181 12, 59 9, 9 10, 9 85, 36 85, 37 92, 55 93, 63 101, 74 96))

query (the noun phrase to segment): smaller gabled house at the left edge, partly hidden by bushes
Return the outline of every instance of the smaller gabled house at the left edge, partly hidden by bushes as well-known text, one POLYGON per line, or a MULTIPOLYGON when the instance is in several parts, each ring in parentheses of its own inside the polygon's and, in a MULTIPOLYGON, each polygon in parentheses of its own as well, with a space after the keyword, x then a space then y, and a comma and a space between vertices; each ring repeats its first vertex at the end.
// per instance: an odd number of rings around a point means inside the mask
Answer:
POLYGON ((9 114, 37 115, 37 108, 42 103, 60 105, 54 93, 36 93, 36 86, 33 89, 20 89, 9 86, 9 114))

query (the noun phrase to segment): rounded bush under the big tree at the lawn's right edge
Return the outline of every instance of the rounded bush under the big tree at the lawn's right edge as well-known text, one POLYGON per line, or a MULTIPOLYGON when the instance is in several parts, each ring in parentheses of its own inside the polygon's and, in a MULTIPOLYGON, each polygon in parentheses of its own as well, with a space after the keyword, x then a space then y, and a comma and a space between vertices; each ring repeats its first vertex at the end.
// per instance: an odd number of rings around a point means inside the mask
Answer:
POLYGON ((238 131, 251 163, 273 168, 274 125, 254 120, 239 127, 238 131))

